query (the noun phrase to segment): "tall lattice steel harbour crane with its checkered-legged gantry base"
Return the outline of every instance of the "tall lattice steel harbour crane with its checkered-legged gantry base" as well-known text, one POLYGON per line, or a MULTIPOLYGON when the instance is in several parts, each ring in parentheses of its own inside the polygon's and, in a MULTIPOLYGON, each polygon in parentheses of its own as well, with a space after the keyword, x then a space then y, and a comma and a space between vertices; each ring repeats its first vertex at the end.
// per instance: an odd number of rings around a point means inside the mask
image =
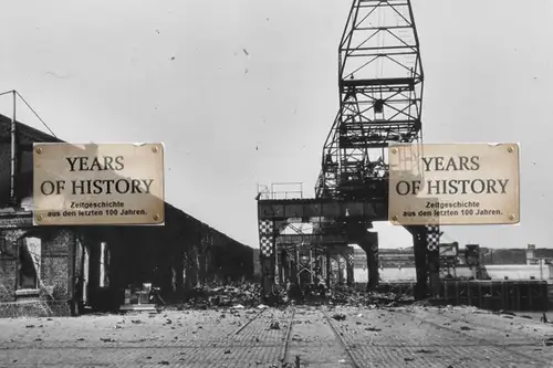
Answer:
MULTIPOLYGON (((332 252, 347 254, 347 244, 357 243, 367 252, 367 286, 377 284, 378 238, 367 230, 373 221, 387 220, 388 146, 421 141, 422 84, 409 0, 353 0, 338 46, 340 109, 324 145, 315 199, 258 197, 265 295, 283 274, 298 274, 286 270, 286 256, 291 249, 305 246, 317 254, 324 250, 319 269, 330 284, 332 252), (281 229, 291 221, 312 223, 313 234, 285 235, 281 229)), ((414 238, 416 294, 424 295, 432 253, 428 235, 436 234, 427 227, 407 230, 414 238)), ((300 264, 299 259, 293 264, 300 264)), ((348 262, 353 274, 351 253, 348 262)))

